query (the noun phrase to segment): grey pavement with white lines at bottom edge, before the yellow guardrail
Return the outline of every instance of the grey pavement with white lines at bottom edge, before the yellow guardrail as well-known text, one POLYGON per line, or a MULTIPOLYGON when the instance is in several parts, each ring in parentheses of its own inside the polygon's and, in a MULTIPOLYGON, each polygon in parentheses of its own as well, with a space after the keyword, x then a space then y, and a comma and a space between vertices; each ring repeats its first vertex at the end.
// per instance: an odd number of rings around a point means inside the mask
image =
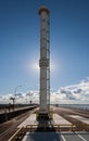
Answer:
POLYGON ((89 141, 89 132, 27 132, 22 141, 89 141))

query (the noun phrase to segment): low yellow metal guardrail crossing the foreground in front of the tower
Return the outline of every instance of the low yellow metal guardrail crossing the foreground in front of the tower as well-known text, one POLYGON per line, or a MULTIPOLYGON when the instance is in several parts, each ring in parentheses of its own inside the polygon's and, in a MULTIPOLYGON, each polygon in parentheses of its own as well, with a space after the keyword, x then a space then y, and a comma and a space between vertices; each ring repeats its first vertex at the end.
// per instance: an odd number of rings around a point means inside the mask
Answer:
MULTIPOLYGON (((26 128, 20 128, 8 141, 22 141, 23 137, 25 136, 25 133, 27 131, 29 132, 34 132, 37 128, 43 128, 43 131, 48 131, 47 128, 48 127, 51 127, 51 126, 48 126, 47 124, 40 124, 39 126, 38 125, 27 125, 26 128)), ((82 130, 87 130, 89 127, 89 125, 82 125, 82 130)), ((61 132, 63 131, 62 129, 68 129, 68 131, 76 131, 76 126, 75 125, 64 125, 64 124, 61 124, 61 125, 53 125, 53 128, 55 128, 55 130, 58 132, 61 132)))

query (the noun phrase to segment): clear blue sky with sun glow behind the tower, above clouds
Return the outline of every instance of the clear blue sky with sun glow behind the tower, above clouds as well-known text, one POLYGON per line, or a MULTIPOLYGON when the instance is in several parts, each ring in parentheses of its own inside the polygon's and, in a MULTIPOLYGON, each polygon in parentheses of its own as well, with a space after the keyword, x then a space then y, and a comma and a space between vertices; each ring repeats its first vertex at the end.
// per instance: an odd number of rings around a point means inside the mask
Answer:
POLYGON ((51 90, 89 77, 89 0, 2 0, 0 95, 39 89, 40 5, 50 9, 51 90))

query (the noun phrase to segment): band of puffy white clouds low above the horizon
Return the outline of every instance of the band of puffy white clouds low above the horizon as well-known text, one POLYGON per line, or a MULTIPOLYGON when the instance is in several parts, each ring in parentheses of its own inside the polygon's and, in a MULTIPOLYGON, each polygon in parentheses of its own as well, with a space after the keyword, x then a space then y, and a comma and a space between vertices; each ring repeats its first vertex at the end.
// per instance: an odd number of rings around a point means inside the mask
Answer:
MULTIPOLYGON (((7 94, 0 97, 0 103, 10 103, 10 98, 13 94, 7 94)), ((34 103, 39 103, 39 92, 29 91, 26 93, 16 94, 16 103, 29 103, 30 100, 34 103)), ((79 84, 61 87, 58 91, 51 92, 51 103, 73 103, 73 104, 88 104, 89 103, 89 77, 81 80, 79 84)))

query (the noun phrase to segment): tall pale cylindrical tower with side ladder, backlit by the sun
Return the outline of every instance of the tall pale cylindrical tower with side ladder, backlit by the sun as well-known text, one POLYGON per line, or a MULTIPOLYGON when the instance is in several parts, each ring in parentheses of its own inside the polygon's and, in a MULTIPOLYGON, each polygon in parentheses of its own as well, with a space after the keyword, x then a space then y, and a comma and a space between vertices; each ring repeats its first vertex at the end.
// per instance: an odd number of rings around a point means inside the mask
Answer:
POLYGON ((39 9, 40 15, 40 108, 39 118, 49 118, 50 110, 50 11, 39 9))

